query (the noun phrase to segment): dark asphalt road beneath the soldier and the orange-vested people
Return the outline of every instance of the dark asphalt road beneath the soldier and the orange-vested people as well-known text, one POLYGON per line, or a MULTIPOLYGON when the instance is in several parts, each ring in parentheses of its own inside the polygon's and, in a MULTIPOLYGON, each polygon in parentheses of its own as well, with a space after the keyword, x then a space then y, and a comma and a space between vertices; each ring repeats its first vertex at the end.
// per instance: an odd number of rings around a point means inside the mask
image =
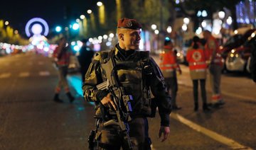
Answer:
MULTIPOLYGON (((152 149, 256 149, 256 84, 238 73, 224 74, 225 105, 210 113, 200 107, 194 113, 188 68, 182 69, 177 98, 182 109, 171 113, 166 142, 157 137, 159 115, 149 118, 152 149)), ((57 71, 47 57, 0 57, 0 149, 87 149, 94 106, 82 99, 80 74, 68 76, 76 98, 73 104, 64 93, 60 98, 65 103, 53 102, 57 81, 57 71)))

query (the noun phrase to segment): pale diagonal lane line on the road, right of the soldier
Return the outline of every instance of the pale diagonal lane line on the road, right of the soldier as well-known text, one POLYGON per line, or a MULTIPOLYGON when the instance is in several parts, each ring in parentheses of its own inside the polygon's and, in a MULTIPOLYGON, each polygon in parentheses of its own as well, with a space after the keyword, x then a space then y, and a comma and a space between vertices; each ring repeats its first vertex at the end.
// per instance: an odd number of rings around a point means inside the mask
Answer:
POLYGON ((190 120, 187 120, 186 118, 182 117, 181 115, 178 115, 177 113, 171 113, 170 116, 171 116, 171 118, 178 120, 179 122, 182 122, 184 125, 187 125, 188 127, 191 127, 192 129, 195 129, 197 132, 206 134, 208 137, 215 139, 215 141, 218 141, 220 143, 230 146, 231 149, 250 149, 250 150, 252 150, 252 148, 250 148, 248 146, 244 146, 242 144, 239 144, 238 142, 235 142, 233 139, 229 139, 228 137, 224 137, 216 132, 211 131, 210 129, 206 129, 204 127, 201 127, 200 125, 196 125, 195 123, 191 122, 190 120))

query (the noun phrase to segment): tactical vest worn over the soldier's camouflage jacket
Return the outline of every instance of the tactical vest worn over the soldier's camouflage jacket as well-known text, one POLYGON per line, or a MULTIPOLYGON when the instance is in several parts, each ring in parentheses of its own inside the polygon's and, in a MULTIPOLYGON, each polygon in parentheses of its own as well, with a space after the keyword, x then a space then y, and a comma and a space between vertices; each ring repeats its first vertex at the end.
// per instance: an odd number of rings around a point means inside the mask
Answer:
MULTIPOLYGON (((151 115, 151 96, 148 85, 152 68, 149 64, 149 52, 136 51, 134 57, 127 61, 120 60, 110 52, 100 52, 100 64, 114 58, 116 72, 120 85, 124 87, 125 95, 132 95, 132 117, 147 117, 151 115)), ((102 74, 105 80, 105 74, 102 74)))

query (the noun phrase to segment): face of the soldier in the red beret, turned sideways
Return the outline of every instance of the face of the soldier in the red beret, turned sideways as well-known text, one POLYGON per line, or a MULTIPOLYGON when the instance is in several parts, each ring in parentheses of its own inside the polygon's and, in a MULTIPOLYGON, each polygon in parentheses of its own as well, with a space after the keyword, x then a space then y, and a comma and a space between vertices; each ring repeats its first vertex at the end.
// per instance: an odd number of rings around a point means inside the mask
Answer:
POLYGON ((138 50, 139 49, 139 41, 141 40, 140 37, 140 30, 132 30, 127 29, 124 33, 123 43, 125 45, 125 50, 138 50))

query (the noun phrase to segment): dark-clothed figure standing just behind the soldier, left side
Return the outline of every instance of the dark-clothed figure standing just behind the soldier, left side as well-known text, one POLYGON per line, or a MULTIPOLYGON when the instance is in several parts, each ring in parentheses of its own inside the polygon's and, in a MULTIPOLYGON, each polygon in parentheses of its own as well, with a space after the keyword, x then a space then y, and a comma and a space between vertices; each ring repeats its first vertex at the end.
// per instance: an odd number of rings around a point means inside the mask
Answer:
POLYGON ((80 63, 80 73, 82 76, 82 83, 85 81, 86 71, 89 68, 90 63, 92 62, 92 57, 94 55, 93 50, 86 45, 87 42, 88 42, 87 39, 82 40, 82 47, 80 50, 80 54, 78 55, 78 62, 80 63))

